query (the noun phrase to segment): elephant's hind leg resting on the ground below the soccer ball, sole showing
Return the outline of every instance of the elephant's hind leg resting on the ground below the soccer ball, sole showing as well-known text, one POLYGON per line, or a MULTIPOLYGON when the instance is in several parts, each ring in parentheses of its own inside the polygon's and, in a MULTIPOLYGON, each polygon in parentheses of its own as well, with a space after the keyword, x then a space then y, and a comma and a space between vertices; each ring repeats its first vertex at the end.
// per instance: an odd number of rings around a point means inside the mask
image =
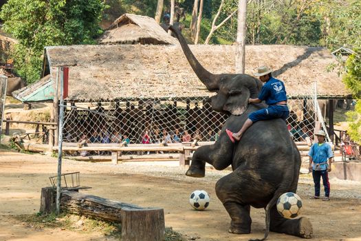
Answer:
POLYGON ((270 231, 286 233, 300 238, 312 238, 313 235, 312 224, 308 218, 283 218, 278 213, 276 206, 271 209, 270 231))

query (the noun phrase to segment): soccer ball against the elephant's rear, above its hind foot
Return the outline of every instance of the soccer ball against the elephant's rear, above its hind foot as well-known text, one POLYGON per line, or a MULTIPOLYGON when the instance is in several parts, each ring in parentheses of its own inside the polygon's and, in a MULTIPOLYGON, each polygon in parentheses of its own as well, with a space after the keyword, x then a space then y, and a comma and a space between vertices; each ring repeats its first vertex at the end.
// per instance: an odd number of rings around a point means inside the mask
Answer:
POLYGON ((296 193, 283 193, 277 200, 277 211, 283 218, 296 218, 302 209, 302 200, 296 193))

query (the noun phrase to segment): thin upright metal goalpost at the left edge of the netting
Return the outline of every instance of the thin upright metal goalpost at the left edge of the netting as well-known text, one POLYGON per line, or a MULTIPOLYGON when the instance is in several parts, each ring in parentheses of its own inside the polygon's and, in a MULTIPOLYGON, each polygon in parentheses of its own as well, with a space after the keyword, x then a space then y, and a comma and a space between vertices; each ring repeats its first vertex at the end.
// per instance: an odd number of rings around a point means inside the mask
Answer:
MULTIPOLYGON (((58 71, 61 73, 61 82, 60 82, 60 104, 59 104, 59 134, 58 134, 58 176, 56 180, 56 213, 61 212, 61 158, 62 158, 62 149, 63 149, 63 120, 64 120, 64 107, 63 107, 63 84, 64 84, 64 72, 63 67, 59 67, 58 71)), ((58 94, 58 93, 56 93, 58 94)))

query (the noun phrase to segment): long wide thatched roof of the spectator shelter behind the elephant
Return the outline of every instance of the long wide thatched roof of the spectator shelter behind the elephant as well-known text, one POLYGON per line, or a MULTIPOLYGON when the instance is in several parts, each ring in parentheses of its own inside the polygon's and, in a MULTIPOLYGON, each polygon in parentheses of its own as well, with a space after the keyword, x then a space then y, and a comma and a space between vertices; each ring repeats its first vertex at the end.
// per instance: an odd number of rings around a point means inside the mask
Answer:
MULTIPOLYGON (((190 49, 210 72, 234 73, 234 46, 190 45, 190 49)), ((351 96, 336 72, 327 72, 327 66, 336 60, 325 48, 248 45, 245 51, 245 73, 252 74, 259 65, 270 65, 274 76, 285 82, 290 97, 313 96, 315 81, 319 98, 351 96)), ((213 95, 205 90, 178 45, 47 47, 44 73, 50 72, 53 83, 59 66, 69 66, 68 100, 213 95)))

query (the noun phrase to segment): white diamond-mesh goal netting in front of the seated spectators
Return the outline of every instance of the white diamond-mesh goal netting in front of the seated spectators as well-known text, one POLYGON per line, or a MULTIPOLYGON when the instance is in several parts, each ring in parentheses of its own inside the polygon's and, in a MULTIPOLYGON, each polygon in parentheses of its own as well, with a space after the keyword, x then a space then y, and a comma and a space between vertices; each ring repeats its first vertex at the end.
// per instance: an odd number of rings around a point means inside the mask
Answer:
MULTIPOLYGON (((142 88, 139 90, 142 92, 142 88)), ((163 141, 182 143, 195 139, 215 141, 228 118, 226 114, 212 110, 208 96, 135 97, 104 101, 102 94, 87 95, 91 95, 92 102, 65 99, 65 142, 121 143, 126 140, 127 143, 145 144, 163 141)), ((326 131, 314 90, 309 90, 305 96, 289 98, 288 105, 287 128, 295 141, 303 141, 307 137, 313 139, 315 128, 326 131)))

